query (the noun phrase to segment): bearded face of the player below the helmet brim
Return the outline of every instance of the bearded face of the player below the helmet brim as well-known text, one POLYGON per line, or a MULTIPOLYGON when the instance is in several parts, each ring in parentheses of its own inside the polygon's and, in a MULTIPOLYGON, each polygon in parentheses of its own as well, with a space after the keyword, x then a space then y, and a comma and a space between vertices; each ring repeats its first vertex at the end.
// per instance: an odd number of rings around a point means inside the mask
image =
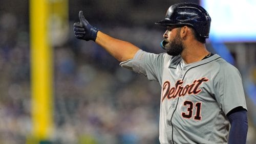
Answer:
POLYGON ((169 28, 164 34, 164 38, 165 39, 165 50, 166 53, 171 55, 171 56, 177 56, 180 55, 181 52, 184 49, 181 37, 180 37, 180 29, 176 28, 176 29, 171 29, 169 28), (167 34, 166 34, 167 33, 167 34), (166 36, 165 36, 166 34, 166 36), (176 34, 174 36, 174 34, 176 34))

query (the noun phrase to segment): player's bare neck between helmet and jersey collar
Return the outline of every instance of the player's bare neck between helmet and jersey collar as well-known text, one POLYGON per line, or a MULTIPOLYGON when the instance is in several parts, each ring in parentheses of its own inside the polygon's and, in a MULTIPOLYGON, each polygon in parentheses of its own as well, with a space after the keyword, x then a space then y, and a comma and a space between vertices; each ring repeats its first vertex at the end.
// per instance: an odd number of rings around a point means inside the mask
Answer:
POLYGON ((207 55, 209 55, 209 52, 205 44, 200 42, 189 43, 181 53, 181 57, 187 64, 200 61, 207 55))

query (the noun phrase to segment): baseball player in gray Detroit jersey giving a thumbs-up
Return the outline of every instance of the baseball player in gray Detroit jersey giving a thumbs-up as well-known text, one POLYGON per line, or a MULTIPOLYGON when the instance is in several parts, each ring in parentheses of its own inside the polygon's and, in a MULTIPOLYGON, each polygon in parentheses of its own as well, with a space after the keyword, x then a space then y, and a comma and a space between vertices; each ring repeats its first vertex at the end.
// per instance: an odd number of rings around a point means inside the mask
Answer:
MULTIPOLYGON (((161 85, 160 143, 245 143, 247 108, 237 68, 207 51, 211 18, 201 6, 179 3, 157 25, 167 30, 153 54, 106 35, 79 12, 78 39, 93 40, 120 65, 161 85)), ((228 29, 228 28, 227 28, 228 29)))

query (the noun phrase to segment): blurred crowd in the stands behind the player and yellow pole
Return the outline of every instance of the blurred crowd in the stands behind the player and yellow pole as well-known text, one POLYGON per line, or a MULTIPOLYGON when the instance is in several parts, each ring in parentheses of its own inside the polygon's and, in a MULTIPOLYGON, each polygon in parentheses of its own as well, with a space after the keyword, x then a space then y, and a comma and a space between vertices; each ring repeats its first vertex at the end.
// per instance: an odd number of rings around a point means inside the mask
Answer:
MULTIPOLYGON (((121 68, 94 42, 75 39, 73 22, 68 40, 53 47, 52 142, 159 143, 159 83, 121 68)), ((163 52, 159 42, 164 29, 98 26, 142 50, 163 52)), ((0 143, 26 143, 32 130, 27 23, 12 13, 0 13, 0 40, 0 143)), ((251 69, 247 78, 256 85, 255 65, 251 69)), ((248 103, 248 108, 255 107, 248 103)), ((247 143, 255 143, 255 124, 255 112, 250 112, 247 143)))

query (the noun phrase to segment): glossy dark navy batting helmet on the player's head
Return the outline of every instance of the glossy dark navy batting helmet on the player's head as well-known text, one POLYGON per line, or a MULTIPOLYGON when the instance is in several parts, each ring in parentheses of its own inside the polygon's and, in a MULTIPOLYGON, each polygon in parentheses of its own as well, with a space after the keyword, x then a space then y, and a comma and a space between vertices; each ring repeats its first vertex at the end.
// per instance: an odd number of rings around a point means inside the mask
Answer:
POLYGON ((179 3, 169 7, 165 18, 156 22, 160 26, 190 26, 200 37, 208 38, 211 18, 207 11, 193 3, 179 3))

